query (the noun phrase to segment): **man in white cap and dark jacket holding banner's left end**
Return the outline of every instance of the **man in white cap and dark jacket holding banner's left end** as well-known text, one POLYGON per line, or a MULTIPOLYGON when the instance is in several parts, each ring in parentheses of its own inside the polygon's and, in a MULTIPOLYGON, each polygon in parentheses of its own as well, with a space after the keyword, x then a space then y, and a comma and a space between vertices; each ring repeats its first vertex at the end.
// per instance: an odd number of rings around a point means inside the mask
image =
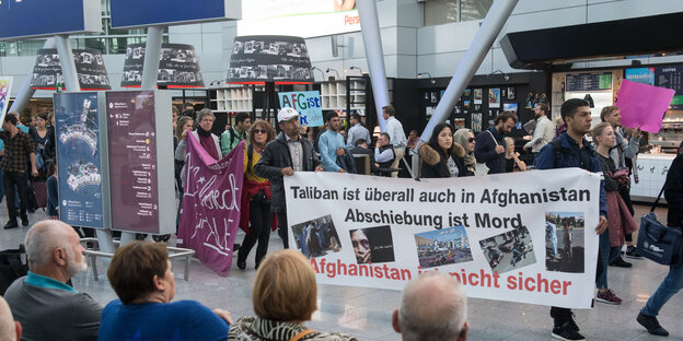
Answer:
POLYGON ((283 177, 294 172, 323 172, 320 158, 313 151, 313 143, 299 137, 299 114, 290 107, 283 107, 278 113, 280 133, 268 142, 254 165, 256 175, 270 180, 270 209, 278 219, 278 234, 282 238, 285 248, 289 248, 287 238, 287 204, 285 202, 283 177))

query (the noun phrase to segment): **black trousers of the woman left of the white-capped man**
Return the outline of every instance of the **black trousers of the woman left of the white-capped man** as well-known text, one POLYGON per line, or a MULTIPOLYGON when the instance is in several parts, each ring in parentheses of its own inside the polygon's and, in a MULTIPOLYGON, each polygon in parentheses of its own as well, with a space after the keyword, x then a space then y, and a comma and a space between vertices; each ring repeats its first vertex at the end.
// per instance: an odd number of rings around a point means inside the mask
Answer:
POLYGON ((251 226, 238 251, 238 261, 246 261, 246 257, 248 257, 254 244, 258 242, 258 246, 256 247, 256 264, 259 264, 262 258, 268 252, 273 213, 270 212, 270 203, 254 202, 253 200, 250 201, 248 210, 251 226))

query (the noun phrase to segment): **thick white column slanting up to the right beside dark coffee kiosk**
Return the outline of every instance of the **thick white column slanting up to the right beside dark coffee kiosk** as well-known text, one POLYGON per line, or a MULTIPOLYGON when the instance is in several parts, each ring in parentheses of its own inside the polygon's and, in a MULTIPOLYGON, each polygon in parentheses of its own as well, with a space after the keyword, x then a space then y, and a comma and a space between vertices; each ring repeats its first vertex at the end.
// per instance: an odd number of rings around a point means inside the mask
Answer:
MULTIPOLYGON (((420 134, 420 142, 429 141, 433 127, 445 121, 449 114, 455 107, 458 98, 462 96, 463 91, 472 80, 472 77, 482 64, 486 54, 494 45, 494 40, 500 34, 502 26, 510 17, 512 10, 517 5, 518 0, 495 0, 488 14, 482 22, 476 36, 472 39, 467 52, 458 66, 451 82, 449 83, 435 114, 429 119, 425 131, 420 134)), ((362 17, 362 16, 361 16, 362 17)), ((363 27, 364 30, 364 27, 363 27)), ((419 142, 418 142, 419 144, 419 142)))

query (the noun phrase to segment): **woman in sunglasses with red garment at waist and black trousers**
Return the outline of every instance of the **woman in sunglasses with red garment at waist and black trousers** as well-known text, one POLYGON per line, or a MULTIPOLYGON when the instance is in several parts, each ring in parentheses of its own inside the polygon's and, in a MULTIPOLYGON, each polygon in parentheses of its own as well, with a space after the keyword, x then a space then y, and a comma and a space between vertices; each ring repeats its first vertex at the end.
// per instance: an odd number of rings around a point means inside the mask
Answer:
POLYGON ((238 251, 238 268, 246 268, 248 252, 256 247, 256 269, 268 252, 271 226, 277 226, 270 211, 270 181, 254 173, 254 165, 261 160, 266 143, 275 139, 275 129, 265 120, 257 120, 248 131, 248 146, 244 150, 244 183, 240 207, 240 228, 246 232, 238 251), (251 225, 251 226, 250 226, 251 225))

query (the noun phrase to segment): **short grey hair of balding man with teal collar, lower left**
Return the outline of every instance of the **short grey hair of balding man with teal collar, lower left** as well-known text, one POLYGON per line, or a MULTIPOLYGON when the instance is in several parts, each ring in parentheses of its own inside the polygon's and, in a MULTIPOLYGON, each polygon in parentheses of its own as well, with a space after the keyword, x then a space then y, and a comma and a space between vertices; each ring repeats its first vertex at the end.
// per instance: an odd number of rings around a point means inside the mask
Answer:
POLYGON ((44 220, 35 223, 24 239, 28 267, 44 266, 53 260, 53 250, 61 247, 69 248, 69 240, 63 232, 63 227, 58 221, 44 220))

